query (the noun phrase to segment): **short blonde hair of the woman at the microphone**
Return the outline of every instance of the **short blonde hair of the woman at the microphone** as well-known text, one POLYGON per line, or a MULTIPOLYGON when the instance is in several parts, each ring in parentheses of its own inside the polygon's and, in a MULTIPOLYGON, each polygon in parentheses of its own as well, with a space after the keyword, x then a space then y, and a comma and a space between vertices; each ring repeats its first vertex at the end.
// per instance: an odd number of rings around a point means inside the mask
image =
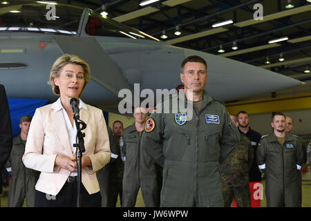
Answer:
POLYGON ((86 63, 86 61, 82 60, 81 58, 77 57, 77 55, 62 55, 61 57, 57 58, 57 60, 54 62, 52 69, 50 70, 50 85, 52 86, 53 93, 55 95, 60 95, 59 86, 55 85, 54 79, 59 77, 59 74, 62 72, 62 68, 66 66, 66 64, 77 64, 79 66, 82 66, 84 69, 84 86, 82 88, 81 93, 86 85, 88 84, 88 81, 91 79, 91 73, 90 73, 90 67, 86 63))

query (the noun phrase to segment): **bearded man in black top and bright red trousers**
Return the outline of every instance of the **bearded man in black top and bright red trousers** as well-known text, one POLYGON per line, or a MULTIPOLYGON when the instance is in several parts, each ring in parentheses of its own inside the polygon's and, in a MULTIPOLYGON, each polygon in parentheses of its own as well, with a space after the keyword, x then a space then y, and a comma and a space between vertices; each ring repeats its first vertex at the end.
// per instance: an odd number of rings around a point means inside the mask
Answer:
MULTIPOLYGON (((253 152, 255 157, 258 142, 261 140, 261 134, 252 130, 249 127, 249 118, 248 113, 246 111, 240 111, 237 117, 238 117, 238 131, 240 131, 241 134, 246 135, 248 139, 251 141, 252 147, 254 148, 253 152)), ((251 191, 252 207, 261 206, 261 198, 254 197, 257 191, 256 186, 261 186, 261 171, 259 171, 258 166, 256 164, 256 160, 254 160, 252 168, 249 171, 249 190, 251 191)))

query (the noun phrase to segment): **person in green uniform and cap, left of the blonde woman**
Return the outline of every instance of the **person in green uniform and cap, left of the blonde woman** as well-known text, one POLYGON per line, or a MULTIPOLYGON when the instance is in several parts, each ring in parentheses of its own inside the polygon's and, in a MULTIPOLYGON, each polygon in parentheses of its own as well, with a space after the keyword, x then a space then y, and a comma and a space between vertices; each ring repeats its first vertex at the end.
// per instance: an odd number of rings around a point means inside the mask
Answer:
POLYGON ((6 168, 10 171, 11 181, 8 190, 8 206, 21 207, 26 198, 27 207, 35 206, 35 184, 39 178, 39 172, 28 169, 23 164, 21 157, 25 152, 25 144, 32 117, 23 116, 19 121, 21 133, 13 139, 12 151, 6 162, 6 168))

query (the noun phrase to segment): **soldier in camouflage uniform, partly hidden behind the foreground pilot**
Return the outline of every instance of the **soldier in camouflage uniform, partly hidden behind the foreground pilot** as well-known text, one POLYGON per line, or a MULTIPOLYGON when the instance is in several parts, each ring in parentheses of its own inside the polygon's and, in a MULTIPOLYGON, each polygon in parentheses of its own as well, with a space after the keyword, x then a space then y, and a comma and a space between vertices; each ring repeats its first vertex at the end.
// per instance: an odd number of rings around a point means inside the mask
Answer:
MULTIPOLYGON (((237 117, 230 115, 230 118, 238 126, 237 117)), ((225 207, 230 207, 233 199, 238 207, 250 207, 252 204, 248 172, 254 161, 254 149, 246 135, 241 134, 241 138, 234 152, 220 164, 225 207)))

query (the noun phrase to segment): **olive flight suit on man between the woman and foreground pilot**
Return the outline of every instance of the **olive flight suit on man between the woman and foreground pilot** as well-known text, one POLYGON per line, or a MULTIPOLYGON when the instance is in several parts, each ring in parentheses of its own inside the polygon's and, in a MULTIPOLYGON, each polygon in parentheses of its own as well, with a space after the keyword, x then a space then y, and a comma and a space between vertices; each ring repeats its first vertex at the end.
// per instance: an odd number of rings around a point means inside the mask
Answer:
POLYGON ((122 206, 135 206, 139 189, 142 191, 145 206, 160 206, 158 166, 142 148, 135 123, 124 129, 120 139, 120 148, 122 160, 124 160, 122 206))

